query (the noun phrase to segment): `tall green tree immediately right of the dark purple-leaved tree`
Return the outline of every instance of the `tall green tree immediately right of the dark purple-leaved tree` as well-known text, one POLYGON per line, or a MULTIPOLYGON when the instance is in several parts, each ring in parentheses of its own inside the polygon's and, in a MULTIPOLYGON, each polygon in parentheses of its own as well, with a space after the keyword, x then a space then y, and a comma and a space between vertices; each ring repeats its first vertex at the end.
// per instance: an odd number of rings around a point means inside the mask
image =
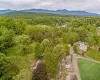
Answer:
POLYGON ((58 73, 58 60, 54 53, 46 52, 44 55, 44 63, 46 65, 47 74, 49 77, 55 77, 58 73))

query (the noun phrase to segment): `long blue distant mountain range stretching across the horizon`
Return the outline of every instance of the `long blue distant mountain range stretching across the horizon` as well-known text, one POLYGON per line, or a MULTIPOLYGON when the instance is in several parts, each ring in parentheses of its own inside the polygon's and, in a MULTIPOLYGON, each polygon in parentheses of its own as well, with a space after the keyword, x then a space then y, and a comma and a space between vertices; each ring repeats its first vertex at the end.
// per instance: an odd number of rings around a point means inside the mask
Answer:
MULTIPOLYGON (((16 10, 0 10, 0 14, 5 14, 9 12, 14 12, 16 10)), ((80 16, 100 16, 100 14, 97 13, 90 13, 86 11, 69 11, 66 9, 63 10, 48 10, 48 9, 25 9, 20 10, 22 12, 38 12, 38 13, 53 13, 53 14, 64 14, 64 15, 80 15, 80 16)))

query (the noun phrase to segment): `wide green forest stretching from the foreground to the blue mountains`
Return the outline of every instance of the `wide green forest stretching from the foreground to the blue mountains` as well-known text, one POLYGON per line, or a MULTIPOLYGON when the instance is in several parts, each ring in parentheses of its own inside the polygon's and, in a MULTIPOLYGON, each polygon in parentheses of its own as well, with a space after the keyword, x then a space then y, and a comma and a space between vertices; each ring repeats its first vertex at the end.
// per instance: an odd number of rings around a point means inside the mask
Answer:
POLYGON ((11 12, 0 15, 0 80, 58 80, 69 55, 100 61, 100 17, 11 12), (79 51, 78 41, 87 51, 79 51), (37 68, 37 61, 41 61, 37 68))

